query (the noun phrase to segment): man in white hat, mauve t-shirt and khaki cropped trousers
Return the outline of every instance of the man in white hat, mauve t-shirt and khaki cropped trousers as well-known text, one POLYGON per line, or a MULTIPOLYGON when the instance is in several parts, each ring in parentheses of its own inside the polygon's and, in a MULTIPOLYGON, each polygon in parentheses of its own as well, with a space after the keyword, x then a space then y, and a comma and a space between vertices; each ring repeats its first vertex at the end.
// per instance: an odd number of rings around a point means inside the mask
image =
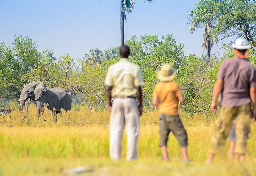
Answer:
POLYGON ((215 154, 225 146, 233 121, 235 120, 236 146, 235 157, 245 160, 247 135, 250 131, 251 105, 252 118, 256 114, 256 70, 248 62, 248 45, 245 39, 236 39, 232 44, 235 57, 221 64, 214 86, 211 110, 217 111, 217 98, 221 94, 221 108, 216 120, 207 163, 212 163, 215 154))

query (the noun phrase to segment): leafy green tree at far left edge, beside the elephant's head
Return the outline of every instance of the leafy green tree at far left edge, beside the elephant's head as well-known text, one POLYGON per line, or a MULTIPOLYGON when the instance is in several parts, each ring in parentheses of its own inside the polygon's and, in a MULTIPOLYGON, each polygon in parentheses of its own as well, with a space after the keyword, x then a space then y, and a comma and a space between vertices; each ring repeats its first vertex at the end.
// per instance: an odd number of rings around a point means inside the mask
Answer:
POLYGON ((41 62, 36 42, 27 37, 16 37, 13 47, 0 43, 1 96, 18 98, 26 84, 25 75, 41 62))

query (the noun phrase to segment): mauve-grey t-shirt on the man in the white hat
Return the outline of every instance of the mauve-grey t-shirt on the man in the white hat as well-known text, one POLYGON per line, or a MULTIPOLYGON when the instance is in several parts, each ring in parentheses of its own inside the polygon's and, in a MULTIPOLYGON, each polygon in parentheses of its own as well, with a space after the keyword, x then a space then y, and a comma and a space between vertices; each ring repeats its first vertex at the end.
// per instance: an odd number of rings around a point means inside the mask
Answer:
POLYGON ((223 80, 221 106, 238 107, 251 103, 250 88, 256 87, 256 69, 248 60, 237 56, 224 60, 217 78, 223 80))

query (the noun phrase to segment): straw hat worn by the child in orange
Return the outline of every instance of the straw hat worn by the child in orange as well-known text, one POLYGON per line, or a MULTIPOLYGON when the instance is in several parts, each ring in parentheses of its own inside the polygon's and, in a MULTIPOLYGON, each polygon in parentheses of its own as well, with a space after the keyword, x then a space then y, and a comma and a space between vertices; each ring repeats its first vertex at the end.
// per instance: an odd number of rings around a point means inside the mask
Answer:
POLYGON ((164 64, 162 69, 156 73, 156 77, 163 82, 168 82, 174 79, 177 71, 172 69, 172 65, 164 64))

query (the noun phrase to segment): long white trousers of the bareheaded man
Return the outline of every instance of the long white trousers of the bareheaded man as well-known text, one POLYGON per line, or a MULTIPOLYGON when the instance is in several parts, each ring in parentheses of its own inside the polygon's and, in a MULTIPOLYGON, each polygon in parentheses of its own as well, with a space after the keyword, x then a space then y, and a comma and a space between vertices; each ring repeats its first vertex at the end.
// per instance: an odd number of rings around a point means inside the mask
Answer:
POLYGON ((113 160, 121 159, 124 126, 127 134, 126 160, 137 159, 137 140, 140 130, 137 101, 133 98, 115 98, 110 114, 109 155, 113 160))

